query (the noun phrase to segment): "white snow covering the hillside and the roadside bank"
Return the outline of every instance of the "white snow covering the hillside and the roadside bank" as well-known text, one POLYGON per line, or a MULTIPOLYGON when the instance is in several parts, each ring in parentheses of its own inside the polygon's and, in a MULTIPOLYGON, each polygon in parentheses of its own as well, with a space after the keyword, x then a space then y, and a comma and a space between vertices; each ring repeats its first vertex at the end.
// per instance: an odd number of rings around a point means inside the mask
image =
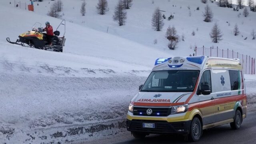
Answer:
MULTIPOLYGON (((130 99, 146 80, 156 58, 188 56, 194 53, 190 45, 214 45, 256 57, 256 41, 250 38, 250 31, 256 29, 253 12, 248 18, 238 18, 241 10, 234 12, 208 3, 214 20, 206 23, 202 21, 205 4, 200 0, 154 0, 154 4, 134 0, 127 10, 126 25, 118 26, 112 21, 117 0, 108 1, 110 10, 103 16, 96 13, 97 0, 86 0, 84 17, 80 16, 81 0, 62 1, 62 18, 66 19, 63 53, 25 48, 5 40, 10 37, 15 41, 35 22, 44 26, 48 21, 57 28, 61 20, 46 16, 53 1, 38 2, 39 6, 34 2, 35 12, 14 8, 14 0, 0 1, 0 143, 68 143, 125 131, 130 99), (173 20, 164 20, 161 32, 151 28, 156 6, 166 11, 166 17, 175 13, 173 20), (195 10, 197 6, 199 11, 195 10), (224 33, 224 40, 218 44, 212 43, 209 36, 214 22, 224 33), (232 35, 235 23, 239 36, 232 35), (176 50, 168 49, 164 37, 169 25, 186 36, 176 50), (191 36, 192 30, 196 36, 191 36), (248 39, 243 40, 241 35, 248 39)), ((28 4, 29 0, 21 2, 28 4)), ((60 32, 62 35, 63 29, 60 32)), ((252 107, 256 102, 256 76, 245 78, 248 106, 252 107)))

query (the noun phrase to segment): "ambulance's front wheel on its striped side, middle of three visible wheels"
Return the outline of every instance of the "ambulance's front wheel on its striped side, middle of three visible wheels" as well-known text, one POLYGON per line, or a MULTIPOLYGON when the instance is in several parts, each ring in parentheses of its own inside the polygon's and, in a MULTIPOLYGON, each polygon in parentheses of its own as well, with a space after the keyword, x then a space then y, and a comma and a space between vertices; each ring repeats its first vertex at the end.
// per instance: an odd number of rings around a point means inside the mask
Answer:
POLYGON ((194 117, 191 126, 190 126, 190 134, 189 140, 192 142, 198 141, 202 136, 202 125, 199 118, 194 117))

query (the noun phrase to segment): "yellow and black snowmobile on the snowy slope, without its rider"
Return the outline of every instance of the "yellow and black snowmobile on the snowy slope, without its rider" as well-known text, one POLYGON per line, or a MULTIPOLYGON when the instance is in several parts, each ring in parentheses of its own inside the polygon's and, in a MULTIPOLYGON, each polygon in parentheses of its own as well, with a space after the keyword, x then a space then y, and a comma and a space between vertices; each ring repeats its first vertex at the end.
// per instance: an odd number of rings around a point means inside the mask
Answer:
POLYGON ((10 42, 11 44, 18 44, 21 46, 26 47, 33 47, 38 48, 42 50, 51 50, 56 52, 62 52, 62 48, 65 44, 66 38, 65 38, 65 32, 66 32, 66 21, 62 20, 60 25, 57 27, 56 31, 54 31, 54 36, 52 38, 52 45, 48 45, 49 42, 47 41, 47 35, 44 32, 44 28, 41 27, 41 23, 36 22, 31 31, 25 32, 23 34, 20 34, 19 39, 16 40, 16 42, 11 42, 10 38, 6 38, 7 42, 10 42), (40 25, 38 28, 36 28, 36 25, 40 25), (58 31, 58 28, 64 25, 64 34, 62 37, 60 36, 60 31, 58 31))

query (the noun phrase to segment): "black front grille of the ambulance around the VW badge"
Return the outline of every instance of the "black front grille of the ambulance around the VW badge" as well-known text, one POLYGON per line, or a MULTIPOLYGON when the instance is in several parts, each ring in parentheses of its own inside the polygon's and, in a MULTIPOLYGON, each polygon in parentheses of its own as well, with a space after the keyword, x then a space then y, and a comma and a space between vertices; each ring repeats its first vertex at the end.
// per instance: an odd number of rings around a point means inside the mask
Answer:
POLYGON ((171 108, 150 108, 150 107, 134 107, 133 115, 134 116, 169 116, 171 108), (148 115, 147 110, 151 109, 152 114, 148 115))

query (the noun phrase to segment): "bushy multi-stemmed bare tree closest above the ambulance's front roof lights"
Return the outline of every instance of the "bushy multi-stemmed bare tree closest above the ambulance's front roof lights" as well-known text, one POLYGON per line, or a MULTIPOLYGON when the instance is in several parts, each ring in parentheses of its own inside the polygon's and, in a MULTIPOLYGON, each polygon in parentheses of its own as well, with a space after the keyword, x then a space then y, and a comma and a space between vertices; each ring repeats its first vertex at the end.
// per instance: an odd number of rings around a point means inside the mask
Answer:
POLYGON ((177 34, 176 28, 174 26, 168 26, 165 36, 169 40, 168 47, 171 50, 174 50, 179 42, 179 36, 177 34))

